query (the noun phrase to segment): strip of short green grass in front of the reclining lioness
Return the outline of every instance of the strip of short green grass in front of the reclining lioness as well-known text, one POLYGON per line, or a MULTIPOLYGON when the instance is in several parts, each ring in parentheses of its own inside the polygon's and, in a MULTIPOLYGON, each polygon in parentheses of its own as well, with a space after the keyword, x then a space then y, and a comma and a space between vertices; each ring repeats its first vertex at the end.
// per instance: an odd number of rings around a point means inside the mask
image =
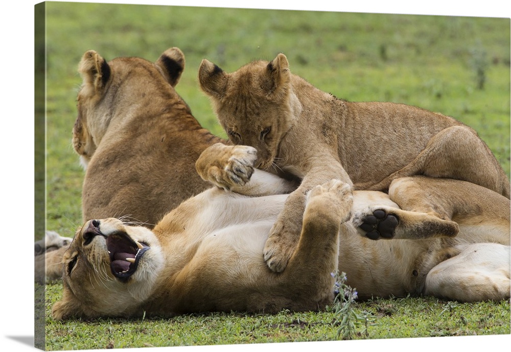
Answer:
MULTIPOLYGON (((49 306, 60 285, 47 287, 49 306)), ((353 339, 509 334, 509 302, 461 304, 433 297, 373 299, 357 304, 374 321, 353 339)), ((55 322, 47 320, 51 349, 122 348, 239 344, 337 339, 332 312, 276 315, 210 313, 170 319, 97 319, 55 322)))

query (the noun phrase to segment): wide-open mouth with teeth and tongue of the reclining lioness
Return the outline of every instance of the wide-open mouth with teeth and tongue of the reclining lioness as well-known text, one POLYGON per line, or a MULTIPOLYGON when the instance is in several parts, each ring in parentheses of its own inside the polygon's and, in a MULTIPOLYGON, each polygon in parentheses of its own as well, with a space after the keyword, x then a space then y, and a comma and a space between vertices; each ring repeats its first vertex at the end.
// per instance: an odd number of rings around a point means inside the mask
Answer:
POLYGON ((132 240, 126 233, 113 233, 106 239, 110 269, 115 277, 127 281, 136 271, 148 245, 132 240))

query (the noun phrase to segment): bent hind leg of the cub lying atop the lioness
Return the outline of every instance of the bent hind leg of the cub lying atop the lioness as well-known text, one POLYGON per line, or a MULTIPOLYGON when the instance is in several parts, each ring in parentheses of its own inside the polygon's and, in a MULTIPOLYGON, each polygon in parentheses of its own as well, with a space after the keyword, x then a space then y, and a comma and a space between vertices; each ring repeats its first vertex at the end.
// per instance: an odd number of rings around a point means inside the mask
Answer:
POLYGON ((468 181, 510 197, 502 167, 487 145, 466 126, 440 131, 412 162, 367 189, 386 190, 392 180, 417 174, 468 181))

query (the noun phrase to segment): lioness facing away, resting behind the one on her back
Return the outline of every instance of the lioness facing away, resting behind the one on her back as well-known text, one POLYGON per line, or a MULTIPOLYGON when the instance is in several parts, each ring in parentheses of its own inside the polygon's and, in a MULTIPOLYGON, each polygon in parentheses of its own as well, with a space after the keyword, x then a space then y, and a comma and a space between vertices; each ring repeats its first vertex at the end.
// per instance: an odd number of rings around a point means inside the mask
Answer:
MULTIPOLYGON (((209 187, 194 164, 221 139, 201 127, 174 89, 184 63, 177 47, 154 63, 136 57, 107 62, 95 51, 83 55, 73 128, 73 146, 85 168, 83 221, 120 217, 152 228, 209 187)), ((46 279, 62 276, 65 247, 36 257, 36 281, 45 281, 45 267, 46 279)))

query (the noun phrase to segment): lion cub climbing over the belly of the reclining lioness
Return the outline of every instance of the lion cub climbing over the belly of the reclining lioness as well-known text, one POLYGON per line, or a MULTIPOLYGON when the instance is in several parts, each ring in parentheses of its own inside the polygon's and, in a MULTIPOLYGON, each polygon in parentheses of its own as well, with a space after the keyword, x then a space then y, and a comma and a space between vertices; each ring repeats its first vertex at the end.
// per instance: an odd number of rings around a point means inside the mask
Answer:
POLYGON ((509 198, 509 181, 475 131, 455 119, 393 103, 350 103, 291 74, 283 54, 226 73, 203 60, 201 88, 229 139, 257 149, 256 166, 301 179, 271 229, 268 266, 282 271, 296 246, 305 194, 338 178, 386 191, 415 174, 469 181, 509 198))

